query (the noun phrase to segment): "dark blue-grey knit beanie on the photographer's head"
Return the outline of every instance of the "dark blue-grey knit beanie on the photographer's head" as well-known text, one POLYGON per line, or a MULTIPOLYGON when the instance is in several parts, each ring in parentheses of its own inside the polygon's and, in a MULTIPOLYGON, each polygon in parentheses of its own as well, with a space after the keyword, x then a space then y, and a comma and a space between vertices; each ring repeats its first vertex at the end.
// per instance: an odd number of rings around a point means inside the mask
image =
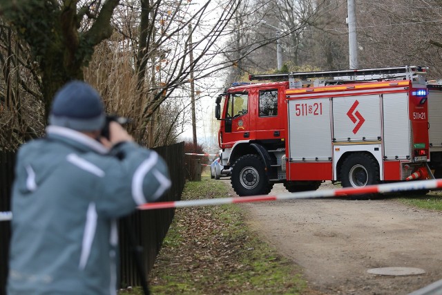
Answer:
POLYGON ((49 123, 77 131, 101 130, 106 115, 98 92, 89 84, 71 81, 55 94, 49 123))

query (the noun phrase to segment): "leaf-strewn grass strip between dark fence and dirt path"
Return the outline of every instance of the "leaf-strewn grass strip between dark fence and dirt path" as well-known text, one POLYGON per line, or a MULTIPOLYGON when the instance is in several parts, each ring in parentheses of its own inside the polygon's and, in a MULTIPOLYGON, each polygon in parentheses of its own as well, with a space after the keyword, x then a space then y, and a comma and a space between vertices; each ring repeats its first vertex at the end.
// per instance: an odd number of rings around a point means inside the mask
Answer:
MULTIPOLYGON (((228 194, 224 182, 203 177, 186 184, 183 200, 228 194)), ((308 289, 299 267, 250 231, 236 204, 177 209, 149 286, 153 294, 305 294, 308 289)))

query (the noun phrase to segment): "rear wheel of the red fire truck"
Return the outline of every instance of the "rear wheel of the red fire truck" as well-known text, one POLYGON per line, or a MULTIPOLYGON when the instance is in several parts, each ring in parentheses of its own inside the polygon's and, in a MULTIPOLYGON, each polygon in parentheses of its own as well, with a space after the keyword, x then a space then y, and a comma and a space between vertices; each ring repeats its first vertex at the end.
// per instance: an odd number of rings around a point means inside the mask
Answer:
MULTIPOLYGON (((340 183, 343 187, 358 188, 381 182, 378 162, 367 153, 352 153, 345 158, 339 170, 340 183)), ((369 193, 349 196, 349 199, 367 200, 373 196, 373 193, 369 193)))

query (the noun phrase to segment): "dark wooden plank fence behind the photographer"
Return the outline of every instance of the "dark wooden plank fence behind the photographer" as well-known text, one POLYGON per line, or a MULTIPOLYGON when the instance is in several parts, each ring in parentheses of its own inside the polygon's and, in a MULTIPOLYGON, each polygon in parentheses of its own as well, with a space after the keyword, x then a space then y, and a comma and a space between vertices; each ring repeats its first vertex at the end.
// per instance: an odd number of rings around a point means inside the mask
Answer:
MULTIPOLYGON (((184 189, 184 142, 154 149, 167 162, 171 174, 172 187, 162 197, 162 201, 180 200, 184 189)), ((0 211, 10 211, 10 191, 13 180, 15 153, 0 151, 0 211)), ((162 241, 171 225, 175 209, 135 211, 124 218, 133 229, 135 244, 142 247, 139 261, 146 272, 150 272, 155 257, 160 251, 162 241)), ((8 248, 10 240, 10 222, 0 222, 0 295, 6 294, 8 276, 8 248)), ((133 255, 133 242, 123 222, 119 225, 120 251, 120 286, 140 286, 141 278, 133 255)), ((147 279, 147 278, 146 278, 147 279)))

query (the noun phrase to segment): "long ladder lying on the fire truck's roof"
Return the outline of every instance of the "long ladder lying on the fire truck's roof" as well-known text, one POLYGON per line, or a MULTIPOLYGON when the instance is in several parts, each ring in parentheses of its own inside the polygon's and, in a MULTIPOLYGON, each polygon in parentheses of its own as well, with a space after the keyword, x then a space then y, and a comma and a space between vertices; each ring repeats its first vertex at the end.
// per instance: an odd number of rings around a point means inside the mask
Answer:
POLYGON ((339 84, 349 82, 367 82, 373 80, 385 79, 409 79, 417 81, 419 84, 425 85, 426 70, 424 66, 398 66, 392 68, 363 68, 354 70, 327 70, 316 72, 291 72, 278 74, 262 74, 249 75, 249 80, 273 80, 273 81, 287 81, 289 80, 290 88, 300 88, 302 84, 311 84, 314 79, 314 86, 320 86, 321 82, 328 84, 339 84), (332 81, 320 80, 320 78, 334 78, 332 81), (340 78, 340 79, 337 79, 340 78), (296 81, 298 80, 298 81, 296 81))

